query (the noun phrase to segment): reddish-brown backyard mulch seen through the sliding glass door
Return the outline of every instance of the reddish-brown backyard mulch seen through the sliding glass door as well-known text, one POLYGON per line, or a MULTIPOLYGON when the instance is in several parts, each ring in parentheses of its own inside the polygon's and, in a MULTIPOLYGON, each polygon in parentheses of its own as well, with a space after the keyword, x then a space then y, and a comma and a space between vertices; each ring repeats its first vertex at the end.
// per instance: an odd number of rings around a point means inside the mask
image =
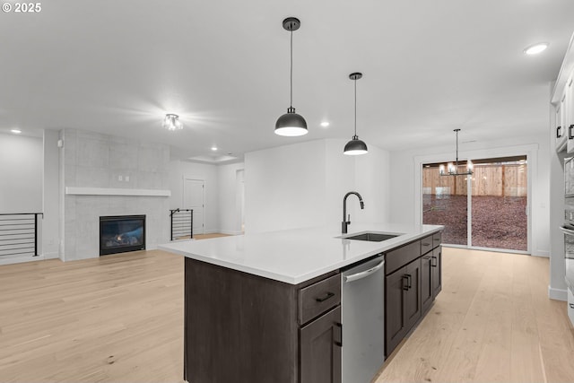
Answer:
MULTIPOLYGON (((423 222, 445 244, 466 245, 466 196, 423 195, 423 222)), ((527 250, 526 196, 473 196, 473 246, 527 250)))

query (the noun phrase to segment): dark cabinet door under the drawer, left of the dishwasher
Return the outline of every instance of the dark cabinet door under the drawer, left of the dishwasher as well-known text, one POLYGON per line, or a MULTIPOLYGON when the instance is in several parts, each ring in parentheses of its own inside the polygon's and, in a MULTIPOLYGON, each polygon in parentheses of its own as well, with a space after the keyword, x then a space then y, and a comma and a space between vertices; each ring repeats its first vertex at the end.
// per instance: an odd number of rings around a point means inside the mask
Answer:
POLYGON ((300 383, 341 383, 341 306, 300 329, 300 383))

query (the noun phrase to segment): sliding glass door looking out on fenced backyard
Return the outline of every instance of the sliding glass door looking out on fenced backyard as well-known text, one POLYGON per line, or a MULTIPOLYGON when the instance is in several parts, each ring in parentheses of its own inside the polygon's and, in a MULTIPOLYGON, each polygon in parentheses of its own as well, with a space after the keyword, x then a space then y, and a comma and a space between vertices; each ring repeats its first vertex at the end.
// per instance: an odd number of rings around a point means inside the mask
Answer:
POLYGON ((438 163, 423 165, 422 222, 444 225, 445 244, 526 252, 526 156, 473 162, 472 176, 441 176, 438 163))

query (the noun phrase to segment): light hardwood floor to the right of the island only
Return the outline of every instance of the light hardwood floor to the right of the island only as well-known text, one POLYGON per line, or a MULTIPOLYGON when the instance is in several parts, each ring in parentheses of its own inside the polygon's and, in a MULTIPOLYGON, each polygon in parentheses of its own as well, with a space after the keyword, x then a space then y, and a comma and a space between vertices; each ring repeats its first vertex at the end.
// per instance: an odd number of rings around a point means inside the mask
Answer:
POLYGON ((574 382, 574 330, 548 278, 548 258, 444 248, 442 292, 375 381, 574 382))

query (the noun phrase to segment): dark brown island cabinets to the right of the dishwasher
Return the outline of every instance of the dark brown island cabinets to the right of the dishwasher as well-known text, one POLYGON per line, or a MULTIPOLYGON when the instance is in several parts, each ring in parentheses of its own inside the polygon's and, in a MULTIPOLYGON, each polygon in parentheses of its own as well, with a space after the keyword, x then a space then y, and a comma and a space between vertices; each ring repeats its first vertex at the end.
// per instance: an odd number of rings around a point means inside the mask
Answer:
POLYGON ((440 241, 438 232, 386 254, 387 357, 431 308, 432 301, 440 292, 442 282, 440 241))

